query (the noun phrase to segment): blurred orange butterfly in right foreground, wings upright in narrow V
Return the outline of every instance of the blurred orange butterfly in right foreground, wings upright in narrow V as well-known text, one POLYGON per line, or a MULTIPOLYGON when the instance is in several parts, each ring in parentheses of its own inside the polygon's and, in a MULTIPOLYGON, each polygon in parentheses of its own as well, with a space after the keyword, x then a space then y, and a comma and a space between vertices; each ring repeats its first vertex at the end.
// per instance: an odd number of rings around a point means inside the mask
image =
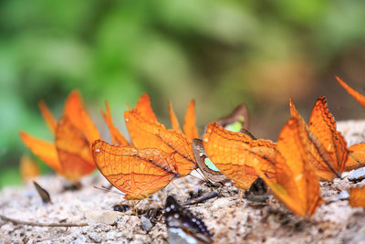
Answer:
POLYGON ((257 174, 294 214, 312 216, 322 203, 318 176, 310 162, 309 133, 301 122, 291 118, 281 130, 276 145, 276 182, 255 165, 257 174))

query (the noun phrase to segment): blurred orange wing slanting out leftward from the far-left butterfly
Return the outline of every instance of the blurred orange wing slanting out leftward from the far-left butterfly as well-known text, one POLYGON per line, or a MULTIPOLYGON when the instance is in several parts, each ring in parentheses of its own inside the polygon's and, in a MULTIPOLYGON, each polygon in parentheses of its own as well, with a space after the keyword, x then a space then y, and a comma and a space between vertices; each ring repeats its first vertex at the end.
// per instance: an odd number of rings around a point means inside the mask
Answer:
POLYGON ((28 133, 20 132, 20 137, 26 147, 36 154, 42 161, 56 172, 62 171, 62 166, 59 163, 56 147, 53 143, 37 139, 28 133))

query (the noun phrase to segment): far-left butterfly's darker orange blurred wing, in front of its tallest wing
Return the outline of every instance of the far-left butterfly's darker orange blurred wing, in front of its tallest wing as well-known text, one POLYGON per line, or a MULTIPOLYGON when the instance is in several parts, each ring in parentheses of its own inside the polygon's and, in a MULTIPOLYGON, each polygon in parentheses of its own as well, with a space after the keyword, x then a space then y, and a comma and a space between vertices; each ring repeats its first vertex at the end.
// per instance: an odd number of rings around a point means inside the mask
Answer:
POLYGON ((77 182, 81 176, 95 169, 88 139, 66 115, 57 123, 55 145, 62 166, 58 174, 77 182))

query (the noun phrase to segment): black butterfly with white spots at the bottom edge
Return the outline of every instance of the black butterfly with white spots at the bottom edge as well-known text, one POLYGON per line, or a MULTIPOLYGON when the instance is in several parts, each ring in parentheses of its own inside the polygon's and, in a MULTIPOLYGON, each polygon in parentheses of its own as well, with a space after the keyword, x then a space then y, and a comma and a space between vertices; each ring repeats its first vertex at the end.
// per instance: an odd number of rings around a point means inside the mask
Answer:
POLYGON ((212 243, 213 235, 208 231, 203 220, 183 208, 172 196, 167 196, 165 221, 169 243, 193 244, 212 243))

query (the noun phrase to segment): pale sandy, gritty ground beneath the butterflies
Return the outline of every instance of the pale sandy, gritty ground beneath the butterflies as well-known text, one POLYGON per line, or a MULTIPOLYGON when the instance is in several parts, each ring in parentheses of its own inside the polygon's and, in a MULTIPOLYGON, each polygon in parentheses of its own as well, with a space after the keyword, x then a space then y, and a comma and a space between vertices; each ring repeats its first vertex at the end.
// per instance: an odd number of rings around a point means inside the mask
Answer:
MULTIPOLYGON (((338 127, 349 144, 365 142, 365 122, 339 122, 338 127)), ((214 189, 193 176, 174 181, 153 198, 162 205, 162 199, 168 195, 185 202, 193 193, 202 195, 217 191, 218 197, 188 207, 197 217, 203 218, 207 228, 214 233, 214 243, 365 243, 365 211, 349 207, 346 196, 350 187, 363 186, 365 180, 354 184, 349 182, 347 175, 343 174, 331 184, 321 184, 327 203, 318 207, 310 219, 293 216, 275 198, 258 204, 240 198, 234 186, 228 184, 214 189)), ((47 189, 51 204, 43 204, 30 183, 5 187, 0 192, 0 214, 24 221, 85 223, 87 226, 33 227, 0 220, 0 243, 167 242, 158 205, 151 200, 142 200, 137 205, 138 216, 132 210, 113 211, 116 204, 128 204, 132 208, 132 203, 123 200, 115 189, 104 192, 94 188, 109 186, 99 174, 82 179, 84 187, 78 191, 63 192, 65 182, 56 175, 40 176, 36 182, 47 189), (150 222, 151 227, 148 227, 150 222)))

